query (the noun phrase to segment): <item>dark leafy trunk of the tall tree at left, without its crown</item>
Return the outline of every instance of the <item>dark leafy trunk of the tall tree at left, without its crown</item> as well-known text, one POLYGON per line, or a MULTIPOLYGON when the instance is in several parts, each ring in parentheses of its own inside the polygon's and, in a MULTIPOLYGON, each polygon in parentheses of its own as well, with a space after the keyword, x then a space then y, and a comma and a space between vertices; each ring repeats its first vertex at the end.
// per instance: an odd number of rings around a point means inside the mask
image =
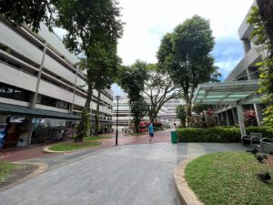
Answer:
POLYGON ((90 118, 89 118, 89 110, 90 110, 90 102, 93 94, 93 84, 88 84, 87 89, 87 97, 86 104, 82 111, 82 119, 80 124, 77 127, 77 136, 74 139, 75 142, 83 141, 84 137, 88 136, 89 128, 90 128, 90 118))

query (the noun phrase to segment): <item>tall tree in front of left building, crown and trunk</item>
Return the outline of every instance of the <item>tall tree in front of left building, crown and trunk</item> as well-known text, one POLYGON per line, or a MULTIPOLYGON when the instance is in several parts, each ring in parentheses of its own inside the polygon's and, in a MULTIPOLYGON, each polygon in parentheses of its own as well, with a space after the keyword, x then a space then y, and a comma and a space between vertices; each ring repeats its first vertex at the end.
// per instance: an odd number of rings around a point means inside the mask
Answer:
POLYGON ((86 67, 88 88, 79 126, 82 129, 76 138, 80 141, 88 132, 88 120, 84 117, 89 113, 92 90, 96 82, 109 77, 112 69, 116 68, 116 44, 122 35, 123 23, 115 0, 59 0, 56 8, 56 26, 67 31, 64 37, 66 47, 76 55, 86 56, 82 65, 86 67))

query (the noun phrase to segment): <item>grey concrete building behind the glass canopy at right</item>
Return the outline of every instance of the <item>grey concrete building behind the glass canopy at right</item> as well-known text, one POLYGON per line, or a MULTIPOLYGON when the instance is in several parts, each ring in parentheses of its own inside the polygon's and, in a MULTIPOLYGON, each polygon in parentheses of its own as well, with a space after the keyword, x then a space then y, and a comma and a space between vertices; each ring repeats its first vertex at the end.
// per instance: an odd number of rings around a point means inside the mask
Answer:
MULTIPOLYGON (((253 3, 253 5, 257 5, 256 1, 253 3)), ((248 11, 248 14, 249 12, 250 10, 248 11)), ((225 82, 256 80, 259 78, 259 70, 258 67, 256 67, 256 64, 260 62, 264 56, 258 53, 258 46, 254 45, 253 39, 250 39, 250 35, 253 32, 254 27, 248 24, 247 18, 248 17, 246 16, 238 29, 238 36, 242 41, 245 56, 238 63, 237 67, 235 67, 227 76, 225 82)), ((261 125, 263 108, 265 108, 264 104, 243 105, 243 110, 255 110, 258 125, 261 125)), ((235 105, 215 106, 215 109, 217 110, 219 125, 232 126, 238 124, 237 108, 235 105)))

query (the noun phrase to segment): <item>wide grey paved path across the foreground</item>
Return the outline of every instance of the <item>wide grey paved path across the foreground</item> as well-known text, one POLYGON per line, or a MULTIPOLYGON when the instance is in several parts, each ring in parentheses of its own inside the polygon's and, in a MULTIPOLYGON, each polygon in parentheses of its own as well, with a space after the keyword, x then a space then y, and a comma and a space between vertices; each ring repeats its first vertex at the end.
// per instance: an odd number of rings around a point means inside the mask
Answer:
MULTIPOLYGON (((1 205, 177 205, 174 168, 239 144, 139 144, 97 150, 0 193, 1 205)), ((63 157, 65 158, 65 157, 63 157)))

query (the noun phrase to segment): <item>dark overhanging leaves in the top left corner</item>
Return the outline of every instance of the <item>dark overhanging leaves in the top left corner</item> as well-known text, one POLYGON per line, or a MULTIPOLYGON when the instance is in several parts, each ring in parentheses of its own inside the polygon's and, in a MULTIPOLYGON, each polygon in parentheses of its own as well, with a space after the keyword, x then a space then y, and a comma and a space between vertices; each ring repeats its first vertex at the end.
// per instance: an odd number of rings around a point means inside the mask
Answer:
POLYGON ((26 24, 35 32, 40 28, 40 22, 50 29, 54 23, 54 10, 58 0, 0 0, 0 14, 16 26, 26 24))

